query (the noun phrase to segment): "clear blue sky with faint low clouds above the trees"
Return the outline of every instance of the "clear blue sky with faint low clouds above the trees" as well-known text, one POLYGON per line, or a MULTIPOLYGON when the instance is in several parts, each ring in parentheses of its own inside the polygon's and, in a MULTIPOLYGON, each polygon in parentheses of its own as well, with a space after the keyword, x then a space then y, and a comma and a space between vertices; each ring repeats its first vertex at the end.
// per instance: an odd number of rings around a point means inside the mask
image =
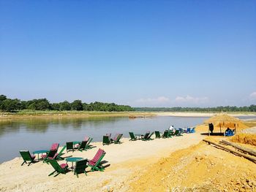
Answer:
POLYGON ((256 1, 0 0, 0 94, 256 103, 256 1))

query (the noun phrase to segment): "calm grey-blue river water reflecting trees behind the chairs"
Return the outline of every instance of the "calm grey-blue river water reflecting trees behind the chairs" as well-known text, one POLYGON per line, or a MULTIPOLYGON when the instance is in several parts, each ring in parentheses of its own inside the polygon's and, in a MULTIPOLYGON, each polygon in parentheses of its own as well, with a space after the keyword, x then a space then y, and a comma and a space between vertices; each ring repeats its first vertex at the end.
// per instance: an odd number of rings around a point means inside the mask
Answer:
POLYGON ((154 118, 61 118, 23 119, 0 122, 0 162, 19 156, 19 150, 48 150, 53 142, 65 145, 68 141, 81 141, 85 136, 94 142, 102 141, 106 133, 124 134, 129 131, 164 131, 173 125, 184 128, 203 123, 207 118, 157 116, 154 118))

